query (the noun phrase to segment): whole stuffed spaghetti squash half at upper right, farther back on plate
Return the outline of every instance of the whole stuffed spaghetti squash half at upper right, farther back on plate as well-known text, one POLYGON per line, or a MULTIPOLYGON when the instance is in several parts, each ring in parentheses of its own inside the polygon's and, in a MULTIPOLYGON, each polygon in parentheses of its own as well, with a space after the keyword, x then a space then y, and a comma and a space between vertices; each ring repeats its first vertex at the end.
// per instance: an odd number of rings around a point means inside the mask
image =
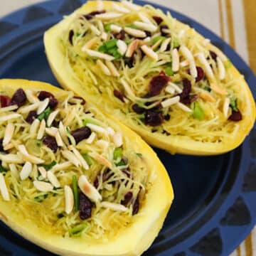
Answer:
POLYGON ((255 102, 230 60, 153 6, 88 1, 46 31, 60 84, 171 153, 221 154, 255 122, 255 102))

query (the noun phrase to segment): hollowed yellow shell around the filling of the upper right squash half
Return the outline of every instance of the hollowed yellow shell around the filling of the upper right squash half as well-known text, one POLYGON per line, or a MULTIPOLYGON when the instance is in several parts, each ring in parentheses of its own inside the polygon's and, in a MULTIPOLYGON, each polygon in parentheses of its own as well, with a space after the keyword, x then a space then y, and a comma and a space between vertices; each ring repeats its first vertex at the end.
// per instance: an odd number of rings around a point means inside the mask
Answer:
MULTIPOLYGON (((111 1, 103 1, 103 3, 104 9, 111 9, 111 1)), ((104 96, 104 99, 102 99, 99 93, 93 94, 92 91, 88 89, 89 87, 91 87, 91 85, 87 85, 85 82, 79 80, 73 72, 69 61, 66 58, 65 49, 63 49, 63 46, 61 46, 60 38, 62 37, 63 33, 68 30, 70 22, 73 21, 73 18, 76 15, 88 14, 91 11, 95 11, 96 9, 97 2, 88 1, 87 4, 83 5, 72 15, 65 17, 63 21, 60 21, 60 23, 53 26, 45 33, 44 43, 46 48, 46 55, 48 57, 50 67, 52 68, 55 77, 60 82, 60 85, 68 90, 73 90, 78 95, 82 95, 83 97, 85 97, 85 99, 100 107, 103 112, 113 114, 114 117, 119 119, 119 121, 127 124, 131 129, 140 134, 149 144, 157 146, 161 149, 165 149, 166 151, 170 151, 173 154, 222 154, 224 152, 235 149, 243 142, 255 122, 255 101, 253 100, 250 89, 244 78, 242 78, 242 75, 231 63, 229 63, 230 67, 228 68, 228 70, 226 70, 226 72, 228 73, 230 78, 233 78, 233 81, 237 81, 235 82, 236 91, 240 95, 242 95, 243 101, 240 101, 239 103, 240 112, 242 112, 242 120, 236 123, 236 128, 233 130, 231 135, 227 131, 223 132, 224 135, 221 141, 219 141, 218 139, 213 139, 212 141, 208 140, 210 136, 218 138, 218 134, 221 133, 221 129, 219 129, 218 132, 211 131, 208 133, 207 129, 201 128, 202 134, 197 134, 196 137, 188 136, 186 135, 186 133, 178 134, 176 132, 176 134, 174 135, 169 134, 169 136, 166 136, 166 134, 162 134, 161 132, 151 132, 151 129, 144 129, 142 125, 138 125, 138 122, 128 122, 127 115, 124 113, 125 111, 122 111, 122 106, 120 104, 117 104, 117 98, 114 98, 113 100, 110 97, 104 96), (208 134, 210 135, 208 136, 208 134)), ((162 18, 166 18, 163 13, 159 13, 159 16, 161 16, 162 18)), ((194 33, 194 35, 198 36, 201 41, 205 39, 203 38, 203 36, 200 36, 192 28, 188 28, 188 26, 183 23, 176 21, 176 26, 178 26, 181 31, 186 31, 186 34, 194 33)), ((225 55, 220 52, 220 50, 215 48, 215 46, 211 45, 210 43, 208 43, 207 49, 213 50, 218 53, 218 55, 222 55, 224 56, 224 58, 226 58, 225 55)), ((215 81, 212 82, 213 84, 215 83, 215 81)), ((216 87, 214 89, 216 90, 216 87)), ((202 94, 202 99, 206 101, 208 100, 208 102, 214 101, 211 96, 206 96, 207 93, 202 94)), ((210 109, 208 109, 207 104, 205 105, 205 114, 210 114, 210 109)), ((187 115, 185 113, 185 118, 186 117, 187 115)), ((204 121, 201 122, 201 124, 204 124, 204 121)))

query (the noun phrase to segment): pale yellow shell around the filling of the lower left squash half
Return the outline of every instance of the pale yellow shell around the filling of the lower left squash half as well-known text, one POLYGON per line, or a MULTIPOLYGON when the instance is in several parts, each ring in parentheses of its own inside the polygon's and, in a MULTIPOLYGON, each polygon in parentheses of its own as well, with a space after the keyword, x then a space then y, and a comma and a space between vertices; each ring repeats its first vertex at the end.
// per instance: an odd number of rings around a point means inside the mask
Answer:
MULTIPOLYGON (((12 95, 18 88, 23 90, 46 90, 55 94, 60 91, 44 82, 28 80, 0 80, 0 92, 9 92, 12 95)), ((87 103, 86 103, 87 104, 87 103)), ((46 250, 58 255, 140 255, 156 238, 164 218, 171 206, 174 193, 169 176, 153 150, 132 130, 124 127, 118 121, 105 116, 105 121, 112 127, 119 129, 132 144, 136 144, 149 166, 149 186, 146 199, 139 214, 134 215, 134 220, 126 228, 120 230, 119 235, 107 242, 86 240, 85 238, 63 238, 62 235, 47 229, 38 228, 38 225, 29 218, 30 210, 18 214, 11 201, 4 201, 0 196, 0 219, 16 233, 34 242, 46 250)), ((50 210, 50 209, 49 209, 50 210)))

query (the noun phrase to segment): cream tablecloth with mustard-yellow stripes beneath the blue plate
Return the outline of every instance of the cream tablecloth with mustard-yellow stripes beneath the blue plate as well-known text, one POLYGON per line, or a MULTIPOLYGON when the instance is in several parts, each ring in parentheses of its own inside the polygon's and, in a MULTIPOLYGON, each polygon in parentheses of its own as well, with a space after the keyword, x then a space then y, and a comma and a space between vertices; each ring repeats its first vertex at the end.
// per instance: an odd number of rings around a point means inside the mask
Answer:
MULTIPOLYGON (((45 0, 0 0, 2 3, 0 17, 41 1, 45 0)), ((256 73, 256 44, 254 43, 256 23, 251 22, 254 21, 256 13, 255 0, 193 0, 193 8, 188 4, 188 0, 147 1, 167 6, 202 23, 235 48, 256 73)), ((254 241, 256 241, 256 228, 233 252, 232 256, 256 255, 256 242, 254 241)))

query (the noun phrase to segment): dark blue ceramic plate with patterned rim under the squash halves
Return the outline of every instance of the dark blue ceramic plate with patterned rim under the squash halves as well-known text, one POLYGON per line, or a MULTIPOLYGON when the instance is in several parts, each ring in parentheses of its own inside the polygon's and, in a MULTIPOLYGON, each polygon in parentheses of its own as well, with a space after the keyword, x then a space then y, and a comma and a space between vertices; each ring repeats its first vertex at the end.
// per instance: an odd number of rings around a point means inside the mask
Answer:
MULTIPOLYGON (((2 18, 0 78, 41 80, 58 86, 44 53, 43 33, 81 4, 79 0, 46 1, 2 18)), ((256 97, 255 75, 237 53, 191 18, 175 11, 171 14, 223 50, 245 75, 256 97)), ((242 146, 220 156, 172 156, 155 149, 169 172, 176 197, 164 228, 144 255, 217 256, 233 252, 256 223, 255 145, 253 129, 242 146)), ((0 255, 53 254, 0 223, 0 255)))

